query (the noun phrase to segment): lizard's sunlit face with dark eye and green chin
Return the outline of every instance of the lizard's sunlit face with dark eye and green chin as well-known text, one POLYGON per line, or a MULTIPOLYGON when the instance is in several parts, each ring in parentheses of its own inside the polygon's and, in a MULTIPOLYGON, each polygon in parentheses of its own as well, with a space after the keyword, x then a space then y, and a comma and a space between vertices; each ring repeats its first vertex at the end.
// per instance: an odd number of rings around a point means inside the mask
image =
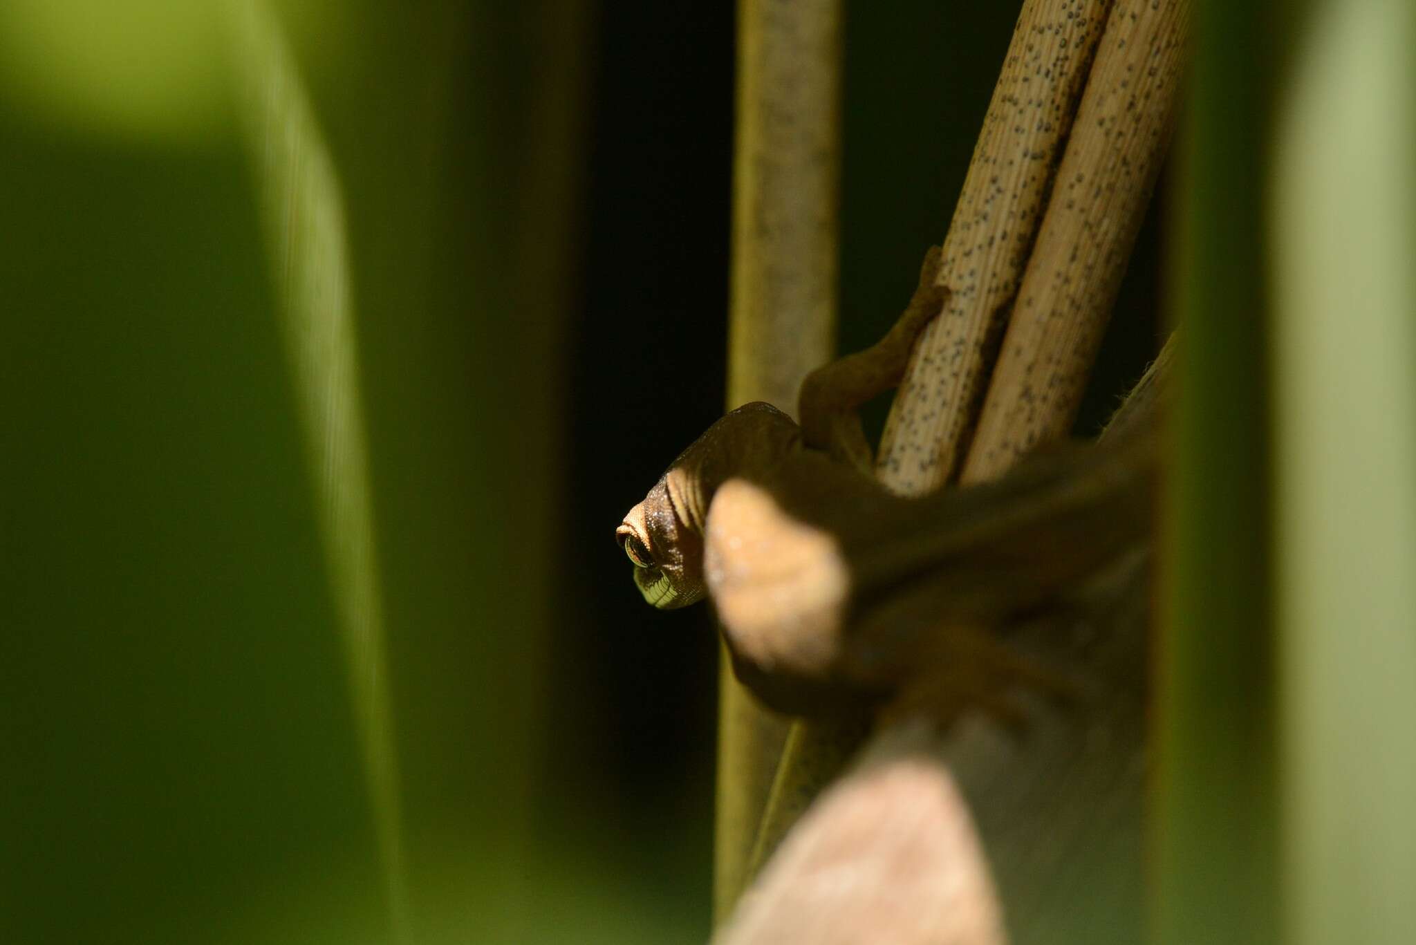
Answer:
POLYGON ((661 611, 688 606, 705 594, 704 540, 675 503, 675 473, 664 473, 615 530, 615 541, 634 564, 639 592, 661 611))

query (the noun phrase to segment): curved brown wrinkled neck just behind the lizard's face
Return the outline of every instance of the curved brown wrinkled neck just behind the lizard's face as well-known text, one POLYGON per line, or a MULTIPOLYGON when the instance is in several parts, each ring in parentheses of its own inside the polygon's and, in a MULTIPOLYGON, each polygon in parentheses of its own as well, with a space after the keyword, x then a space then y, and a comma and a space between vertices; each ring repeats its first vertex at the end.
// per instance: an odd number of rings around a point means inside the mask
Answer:
POLYGON ((724 415, 664 473, 680 521, 700 536, 718 486, 735 477, 759 480, 801 448, 801 431, 770 404, 755 401, 724 415))

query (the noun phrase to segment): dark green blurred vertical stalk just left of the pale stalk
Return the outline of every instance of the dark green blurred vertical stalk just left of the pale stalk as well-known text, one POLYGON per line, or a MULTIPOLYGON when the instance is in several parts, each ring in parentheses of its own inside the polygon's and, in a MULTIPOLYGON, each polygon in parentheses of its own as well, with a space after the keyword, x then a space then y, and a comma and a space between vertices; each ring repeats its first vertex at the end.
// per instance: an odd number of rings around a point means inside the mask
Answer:
POLYGON ((1195 4, 1178 201, 1155 798, 1161 942, 1276 935, 1264 116, 1267 4, 1195 4))

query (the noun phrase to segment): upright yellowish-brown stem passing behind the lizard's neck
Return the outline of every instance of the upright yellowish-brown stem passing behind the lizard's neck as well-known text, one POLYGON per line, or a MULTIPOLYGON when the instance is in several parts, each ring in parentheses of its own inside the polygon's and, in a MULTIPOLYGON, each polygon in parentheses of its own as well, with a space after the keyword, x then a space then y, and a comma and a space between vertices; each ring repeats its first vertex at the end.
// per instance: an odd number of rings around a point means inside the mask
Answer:
MULTIPOLYGON (((741 0, 728 407, 792 411, 835 336, 841 0, 741 0)), ((787 721, 721 660, 714 915, 748 861, 787 721)))

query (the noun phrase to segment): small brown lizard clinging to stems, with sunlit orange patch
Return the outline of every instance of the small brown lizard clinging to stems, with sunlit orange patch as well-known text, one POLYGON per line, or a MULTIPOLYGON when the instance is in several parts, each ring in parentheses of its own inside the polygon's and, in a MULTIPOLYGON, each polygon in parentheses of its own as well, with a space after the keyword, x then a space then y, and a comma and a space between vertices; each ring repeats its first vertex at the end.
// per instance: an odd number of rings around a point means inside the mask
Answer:
POLYGON ((735 674, 773 710, 823 715, 912 689, 939 711, 1012 718, 1007 690, 1066 686, 997 629, 1150 533, 1154 398, 994 482, 903 497, 875 480, 858 409, 898 387, 942 312, 939 259, 930 248, 881 341, 807 375, 800 424, 765 402, 731 411, 616 528, 650 605, 712 601, 735 674))

